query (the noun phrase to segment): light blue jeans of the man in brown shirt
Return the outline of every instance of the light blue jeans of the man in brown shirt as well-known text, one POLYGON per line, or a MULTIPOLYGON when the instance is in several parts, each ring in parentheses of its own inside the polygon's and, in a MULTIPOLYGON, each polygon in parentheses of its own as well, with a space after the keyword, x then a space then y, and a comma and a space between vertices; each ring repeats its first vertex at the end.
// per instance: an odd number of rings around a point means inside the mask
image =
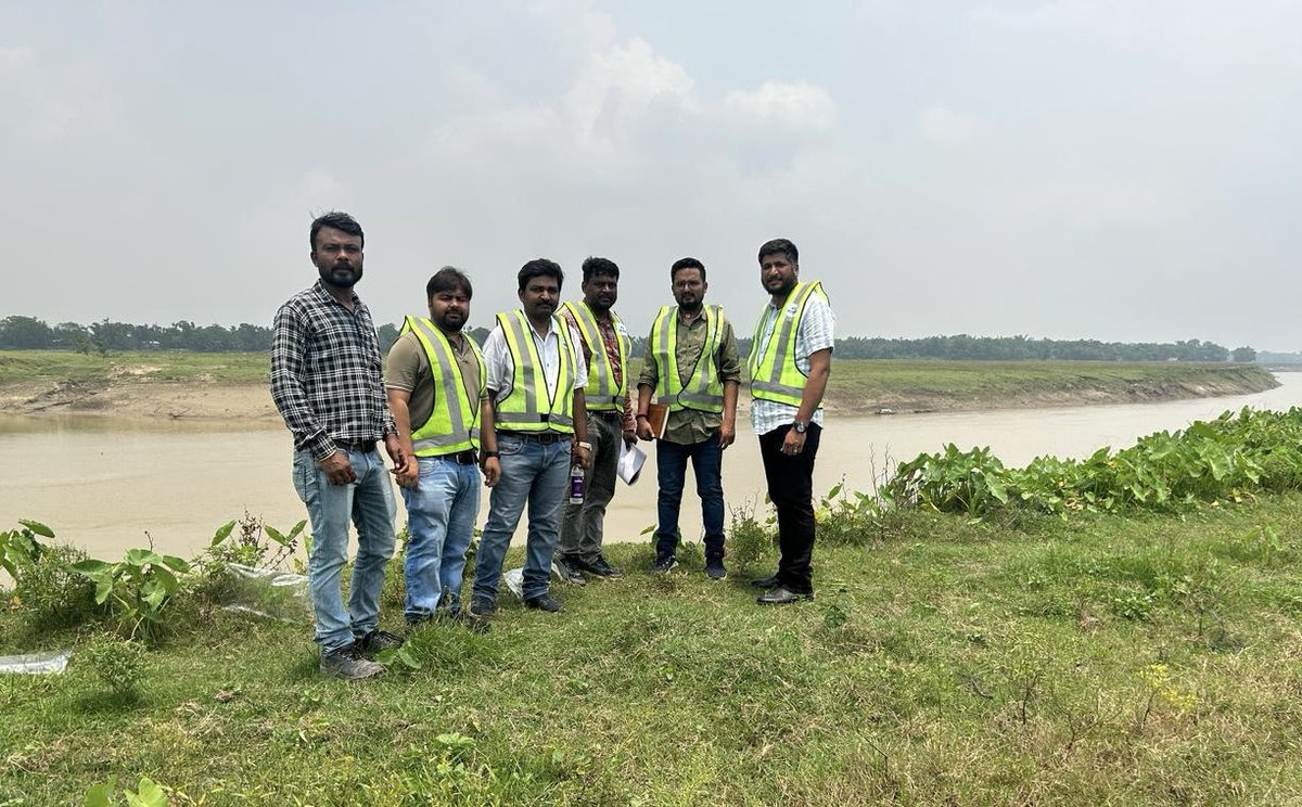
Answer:
POLYGON ((448 610, 461 607, 461 575, 479 514, 479 469, 450 457, 417 457, 421 479, 401 488, 408 508, 408 622, 432 616, 440 600, 448 610))

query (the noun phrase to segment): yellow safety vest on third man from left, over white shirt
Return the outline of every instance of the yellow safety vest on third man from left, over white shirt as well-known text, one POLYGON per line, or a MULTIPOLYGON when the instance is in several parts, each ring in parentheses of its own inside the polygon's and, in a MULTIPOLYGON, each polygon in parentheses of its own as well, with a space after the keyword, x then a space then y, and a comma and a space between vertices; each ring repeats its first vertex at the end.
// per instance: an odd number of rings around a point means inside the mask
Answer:
POLYGON ((560 354, 560 368, 556 375, 556 398, 547 400, 547 379, 543 376, 543 359, 534 344, 534 327, 523 311, 497 315, 497 327, 506 337, 506 349, 516 366, 510 380, 510 393, 497 402, 497 426, 517 432, 557 431, 574 432, 574 348, 570 342, 569 327, 552 318, 560 354), (543 404, 546 402, 546 407, 543 404))

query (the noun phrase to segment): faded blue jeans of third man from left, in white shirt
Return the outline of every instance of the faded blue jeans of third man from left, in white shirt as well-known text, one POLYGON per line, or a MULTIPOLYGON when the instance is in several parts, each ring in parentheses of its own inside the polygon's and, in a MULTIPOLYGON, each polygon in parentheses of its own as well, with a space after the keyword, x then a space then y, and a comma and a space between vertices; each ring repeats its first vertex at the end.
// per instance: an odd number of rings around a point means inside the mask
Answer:
POLYGON ((523 588, 525 599, 531 600, 551 588, 561 504, 568 499, 570 444, 560 440, 543 445, 510 432, 497 432, 497 452, 501 454, 501 479, 488 497, 488 522, 479 536, 474 599, 497 600, 501 562, 525 502, 529 502, 523 588))

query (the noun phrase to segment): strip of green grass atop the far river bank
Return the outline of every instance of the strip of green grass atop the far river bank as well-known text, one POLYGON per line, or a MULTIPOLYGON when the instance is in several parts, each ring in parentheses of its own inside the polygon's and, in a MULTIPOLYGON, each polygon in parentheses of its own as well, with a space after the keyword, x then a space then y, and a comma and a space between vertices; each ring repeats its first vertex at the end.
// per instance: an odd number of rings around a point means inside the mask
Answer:
MULTIPOLYGON (((268 361, 262 353, 0 350, 0 384, 267 384, 268 361)), ((641 362, 633 361, 630 377, 639 368, 641 362)), ((1273 376, 1255 364, 838 361, 827 404, 838 413, 997 409, 1238 394, 1275 385, 1273 376)))

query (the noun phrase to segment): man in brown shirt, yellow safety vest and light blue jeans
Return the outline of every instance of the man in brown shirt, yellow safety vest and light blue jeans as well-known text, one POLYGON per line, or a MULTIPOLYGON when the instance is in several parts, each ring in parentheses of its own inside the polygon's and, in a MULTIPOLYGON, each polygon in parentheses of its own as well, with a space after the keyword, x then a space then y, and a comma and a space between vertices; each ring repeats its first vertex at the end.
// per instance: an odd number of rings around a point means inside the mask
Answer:
POLYGON ((408 509, 409 626, 440 617, 487 627, 461 609, 466 549, 479 515, 479 414, 487 374, 474 340, 470 279, 443 267, 426 284, 430 316, 409 316, 389 349, 384 387, 398 440, 415 462, 396 474, 408 509))

